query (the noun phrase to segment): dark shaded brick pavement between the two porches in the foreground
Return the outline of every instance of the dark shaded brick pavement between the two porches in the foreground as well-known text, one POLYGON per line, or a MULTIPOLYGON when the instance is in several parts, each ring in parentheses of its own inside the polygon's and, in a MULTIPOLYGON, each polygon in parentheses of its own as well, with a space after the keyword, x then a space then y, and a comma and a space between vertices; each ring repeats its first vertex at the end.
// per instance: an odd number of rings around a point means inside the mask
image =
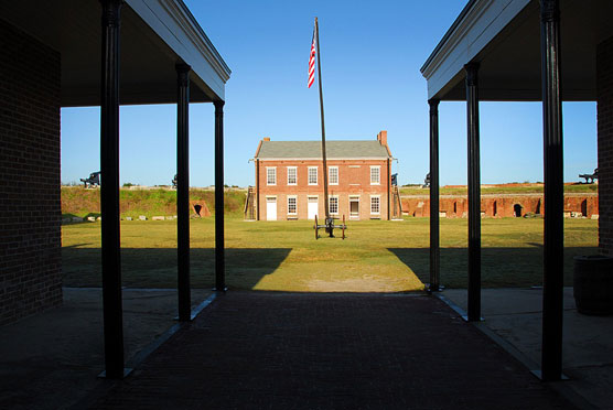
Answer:
POLYGON ((567 409, 437 299, 230 292, 94 409, 567 409))

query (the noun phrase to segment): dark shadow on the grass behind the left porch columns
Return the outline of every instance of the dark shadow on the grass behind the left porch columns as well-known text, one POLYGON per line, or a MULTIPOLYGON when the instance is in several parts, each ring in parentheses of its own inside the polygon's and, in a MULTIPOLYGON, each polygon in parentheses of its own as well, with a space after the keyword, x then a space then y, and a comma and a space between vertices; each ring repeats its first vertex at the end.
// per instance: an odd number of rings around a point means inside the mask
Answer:
MULTIPOLYGON (((227 248, 226 284, 229 289, 252 289, 260 279, 275 270, 291 248, 227 248)), ((62 248, 65 287, 101 285, 100 248, 62 248)), ((215 283, 215 249, 191 250, 191 285, 213 288, 215 283)), ((175 288, 176 249, 121 249, 121 282, 128 288, 175 288)))

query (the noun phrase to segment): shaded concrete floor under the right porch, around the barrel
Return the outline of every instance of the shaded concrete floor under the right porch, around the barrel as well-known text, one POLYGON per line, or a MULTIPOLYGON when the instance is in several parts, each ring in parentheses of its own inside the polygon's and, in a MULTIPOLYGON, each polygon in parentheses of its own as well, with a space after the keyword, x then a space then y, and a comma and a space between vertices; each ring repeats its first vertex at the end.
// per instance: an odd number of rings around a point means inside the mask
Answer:
MULTIPOLYGON (((540 369, 542 289, 483 289, 480 326, 510 345, 526 367, 540 369)), ((441 293, 466 310, 466 290, 441 293)), ((613 316, 577 312, 572 288, 564 288, 561 389, 599 409, 613 409, 613 316)))

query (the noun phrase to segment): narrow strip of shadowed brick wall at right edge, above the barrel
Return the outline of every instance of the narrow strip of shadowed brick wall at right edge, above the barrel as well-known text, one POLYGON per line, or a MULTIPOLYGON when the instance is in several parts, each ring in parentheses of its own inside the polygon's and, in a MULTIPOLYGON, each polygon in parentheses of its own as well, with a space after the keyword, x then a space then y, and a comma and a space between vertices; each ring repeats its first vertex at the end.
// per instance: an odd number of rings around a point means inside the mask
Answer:
POLYGON ((613 255, 613 37, 596 50, 599 247, 613 255))

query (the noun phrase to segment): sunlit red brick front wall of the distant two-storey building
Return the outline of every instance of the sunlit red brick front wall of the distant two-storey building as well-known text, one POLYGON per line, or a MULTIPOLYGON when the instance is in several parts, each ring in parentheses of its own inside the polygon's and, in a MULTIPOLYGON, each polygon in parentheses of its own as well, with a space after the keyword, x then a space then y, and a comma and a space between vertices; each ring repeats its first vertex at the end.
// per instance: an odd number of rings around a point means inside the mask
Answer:
MULTIPOLYGON (((389 160, 327 160, 329 169, 338 169, 338 183, 329 183, 329 196, 337 196, 338 214, 342 218, 345 215, 349 219, 349 201, 358 202, 358 216, 355 219, 380 218, 388 219, 389 190, 391 176, 389 173, 389 160), (379 184, 370 184, 370 168, 379 168, 379 184), (379 197, 379 213, 373 214, 370 211, 370 198, 379 197)), ((318 218, 325 217, 323 198, 323 164, 321 160, 258 160, 256 170, 258 192, 259 218, 267 220, 267 197, 272 201, 276 198, 277 219, 306 219, 309 209, 309 198, 318 201, 318 218), (288 185, 288 166, 297 168, 295 185, 288 185), (275 185, 267 184, 267 168, 275 168, 277 182, 275 185), (318 184, 310 185, 309 168, 318 169, 318 184), (258 176, 259 175, 259 176, 258 176), (288 213, 288 196, 297 197, 297 213, 288 213)), ((355 206, 355 205, 354 205, 355 206)))

